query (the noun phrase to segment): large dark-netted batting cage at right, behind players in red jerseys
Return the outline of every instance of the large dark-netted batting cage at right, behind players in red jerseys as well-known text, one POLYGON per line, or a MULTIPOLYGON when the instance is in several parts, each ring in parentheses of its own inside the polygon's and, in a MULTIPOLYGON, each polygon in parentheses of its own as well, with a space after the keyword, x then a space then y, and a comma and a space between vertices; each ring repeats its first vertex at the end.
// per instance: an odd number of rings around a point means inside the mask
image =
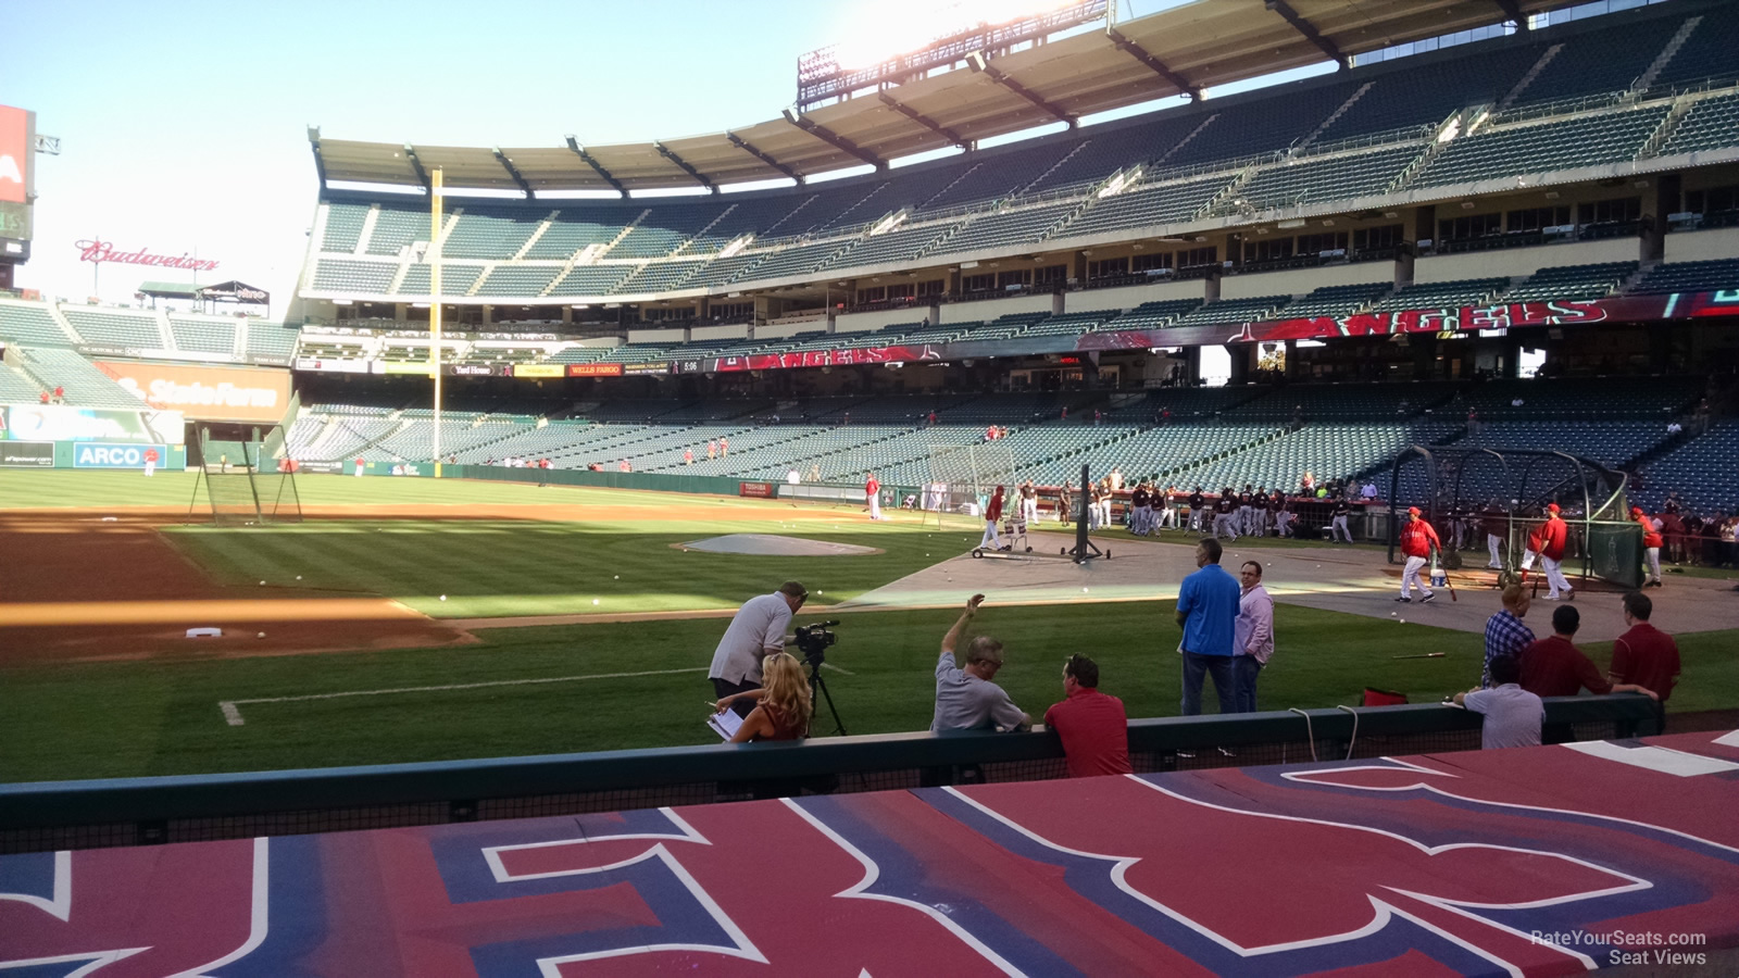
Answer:
POLYGON ((1569 452, 1414 445, 1395 459, 1389 479, 1389 562, 1396 562, 1402 515, 1417 506, 1443 541, 1447 569, 1459 569, 1464 552, 1482 552, 1499 579, 1515 579, 1529 534, 1556 503, 1569 524, 1565 571, 1638 586, 1642 529, 1629 520, 1626 480, 1569 452))

